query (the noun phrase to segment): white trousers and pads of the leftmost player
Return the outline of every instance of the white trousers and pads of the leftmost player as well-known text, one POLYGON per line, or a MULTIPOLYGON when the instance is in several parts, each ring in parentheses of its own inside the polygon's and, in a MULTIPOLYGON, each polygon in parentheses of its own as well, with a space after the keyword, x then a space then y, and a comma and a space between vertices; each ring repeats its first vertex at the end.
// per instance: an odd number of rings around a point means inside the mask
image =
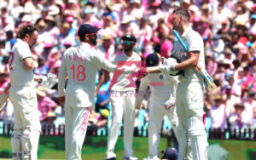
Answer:
POLYGON ((36 89, 11 86, 9 99, 14 106, 15 126, 11 137, 13 159, 38 159, 41 131, 36 89))

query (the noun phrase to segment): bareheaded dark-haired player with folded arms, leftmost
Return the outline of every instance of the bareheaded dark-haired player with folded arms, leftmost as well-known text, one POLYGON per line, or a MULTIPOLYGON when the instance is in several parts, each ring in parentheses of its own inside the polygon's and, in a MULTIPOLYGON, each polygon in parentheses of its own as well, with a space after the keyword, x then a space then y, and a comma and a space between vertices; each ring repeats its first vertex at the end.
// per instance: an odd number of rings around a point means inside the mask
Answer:
POLYGON ((24 26, 20 31, 9 58, 9 99, 14 106, 15 125, 11 135, 13 159, 37 159, 41 131, 38 101, 33 70, 38 63, 32 60, 30 48, 37 42, 34 26, 24 26))

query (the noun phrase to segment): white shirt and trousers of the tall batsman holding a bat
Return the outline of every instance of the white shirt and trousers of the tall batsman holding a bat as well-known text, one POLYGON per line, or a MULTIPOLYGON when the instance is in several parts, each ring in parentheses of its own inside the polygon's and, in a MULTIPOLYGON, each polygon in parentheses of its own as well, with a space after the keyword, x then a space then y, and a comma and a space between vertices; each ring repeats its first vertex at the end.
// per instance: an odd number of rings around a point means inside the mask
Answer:
MULTIPOLYGON (((198 63, 205 69, 204 43, 200 34, 189 27, 183 32, 181 38, 187 46, 188 52, 200 52, 198 63)), ((180 43, 177 43, 172 54, 180 61, 189 59, 189 55, 184 53, 180 43)), ((201 77, 197 75, 195 68, 184 70, 184 76, 179 75, 179 80, 176 92, 177 140, 182 143, 179 143, 178 146, 178 157, 183 159, 189 156, 189 139, 191 139, 193 159, 205 160, 207 159, 207 134, 202 121, 203 82, 201 77)))

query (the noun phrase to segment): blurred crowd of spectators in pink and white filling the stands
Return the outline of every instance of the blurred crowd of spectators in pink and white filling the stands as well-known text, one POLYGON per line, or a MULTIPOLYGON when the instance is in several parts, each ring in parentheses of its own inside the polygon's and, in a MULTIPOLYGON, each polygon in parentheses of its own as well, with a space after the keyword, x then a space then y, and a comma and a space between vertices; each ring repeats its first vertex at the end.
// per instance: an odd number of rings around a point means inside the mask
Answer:
MULTIPOLYGON (((249 0, 0 0, 0 88, 3 90, 9 83, 9 54, 22 26, 38 27, 38 42, 32 55, 39 67, 34 73, 58 75, 61 55, 79 43, 76 33, 84 23, 102 28, 96 49, 108 60, 122 50, 120 37, 125 33, 137 37, 134 50, 142 60, 148 54, 169 57, 177 43, 172 35, 172 10, 180 7, 189 10, 190 26, 204 40, 207 71, 218 86, 205 95, 205 111, 212 119, 211 127, 253 129, 256 3, 249 0)), ((110 80, 102 85, 90 116, 90 123, 97 127, 108 123, 110 80)), ((40 84, 35 87, 42 123, 53 123, 63 117, 57 91, 44 89, 40 84)), ((13 119, 11 108, 7 103, 0 111, 5 121, 13 119)))

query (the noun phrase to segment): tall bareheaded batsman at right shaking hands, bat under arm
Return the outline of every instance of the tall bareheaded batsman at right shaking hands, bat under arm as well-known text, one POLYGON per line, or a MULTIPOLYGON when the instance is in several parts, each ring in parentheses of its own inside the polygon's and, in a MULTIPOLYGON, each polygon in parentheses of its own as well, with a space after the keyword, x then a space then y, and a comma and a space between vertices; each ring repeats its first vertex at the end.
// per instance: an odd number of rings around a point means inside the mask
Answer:
MULTIPOLYGON (((172 14, 173 29, 178 31, 188 52, 180 43, 172 51, 173 56, 180 63, 169 66, 148 68, 148 72, 155 71, 181 71, 178 76, 176 91, 177 106, 177 140, 178 157, 184 159, 189 154, 189 138, 191 139, 192 155, 194 160, 207 160, 207 134, 202 121, 204 84, 201 77, 195 71, 195 67, 205 66, 204 44, 200 34, 189 27, 189 12, 185 9, 176 9, 172 14)), ((204 68, 203 68, 204 69, 204 68)))

